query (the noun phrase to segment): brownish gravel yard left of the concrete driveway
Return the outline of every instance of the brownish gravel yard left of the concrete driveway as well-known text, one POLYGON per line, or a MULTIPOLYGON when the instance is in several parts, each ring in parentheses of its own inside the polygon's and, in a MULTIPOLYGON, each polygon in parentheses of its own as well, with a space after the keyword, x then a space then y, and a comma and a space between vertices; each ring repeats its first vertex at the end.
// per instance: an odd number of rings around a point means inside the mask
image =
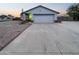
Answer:
POLYGON ((30 24, 19 24, 21 21, 0 22, 0 49, 4 48, 30 24))

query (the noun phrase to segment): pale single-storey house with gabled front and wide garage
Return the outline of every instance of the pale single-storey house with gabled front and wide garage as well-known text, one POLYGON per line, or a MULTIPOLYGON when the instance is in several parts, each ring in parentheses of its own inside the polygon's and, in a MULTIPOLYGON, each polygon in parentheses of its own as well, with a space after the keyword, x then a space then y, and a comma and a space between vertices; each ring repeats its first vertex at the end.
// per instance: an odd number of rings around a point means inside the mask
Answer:
POLYGON ((57 20, 57 14, 59 14, 59 12, 57 11, 39 5, 22 12, 21 19, 26 20, 27 13, 32 14, 32 20, 34 21, 34 23, 53 23, 55 20, 57 20))

